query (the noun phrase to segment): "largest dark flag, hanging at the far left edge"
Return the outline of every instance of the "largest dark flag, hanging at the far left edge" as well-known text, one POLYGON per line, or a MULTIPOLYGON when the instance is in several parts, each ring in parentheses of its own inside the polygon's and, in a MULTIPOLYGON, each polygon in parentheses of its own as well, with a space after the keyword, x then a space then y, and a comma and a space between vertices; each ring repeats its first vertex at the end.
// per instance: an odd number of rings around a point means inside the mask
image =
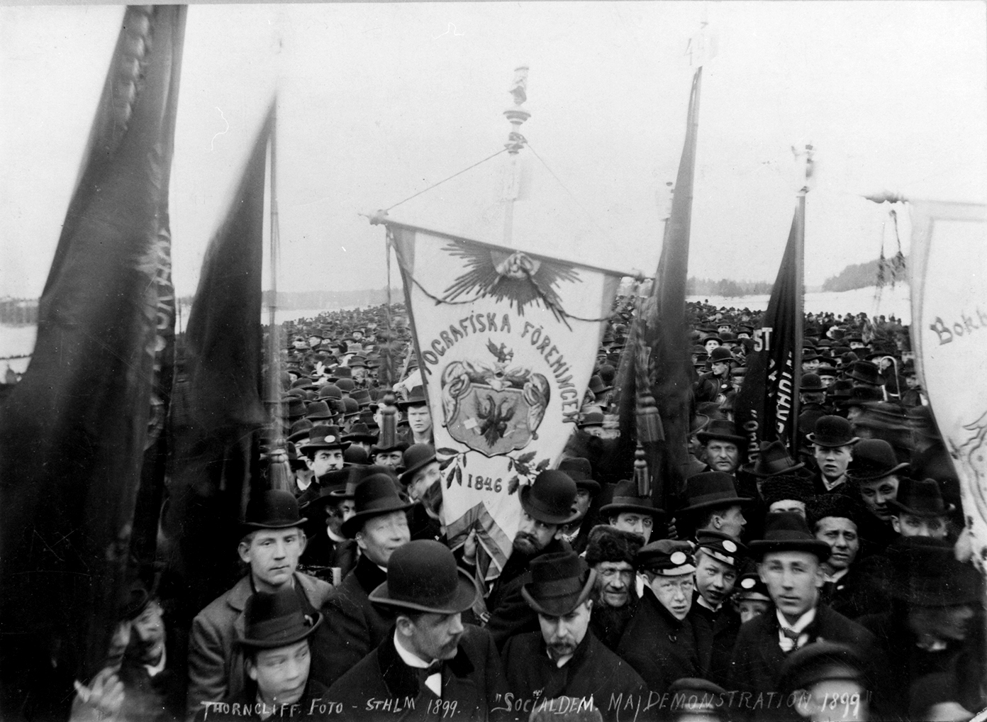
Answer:
POLYGON ((125 11, 34 357, 0 410, 4 719, 62 716, 72 679, 104 663, 125 591, 141 464, 158 431, 156 374, 168 362, 160 311, 172 295, 185 19, 184 6, 125 11))

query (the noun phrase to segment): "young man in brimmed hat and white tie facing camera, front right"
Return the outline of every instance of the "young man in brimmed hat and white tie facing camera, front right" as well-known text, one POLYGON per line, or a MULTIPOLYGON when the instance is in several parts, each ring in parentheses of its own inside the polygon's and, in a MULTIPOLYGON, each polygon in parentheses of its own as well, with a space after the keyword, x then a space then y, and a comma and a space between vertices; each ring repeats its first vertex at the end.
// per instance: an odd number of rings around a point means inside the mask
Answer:
MULTIPOLYGON (((730 688, 740 692, 735 716, 758 721, 797 720, 797 710, 786 704, 782 695, 782 666, 787 656, 825 639, 847 644, 870 659, 874 636, 819 601, 824 582, 822 564, 832 552, 829 544, 812 536, 797 513, 769 515, 764 538, 752 541, 749 548, 759 560, 758 574, 775 609, 754 617, 737 634, 730 664, 730 688)), ((873 682, 874 676, 870 679, 873 682)), ((868 688, 876 691, 878 687, 870 683, 868 688)))

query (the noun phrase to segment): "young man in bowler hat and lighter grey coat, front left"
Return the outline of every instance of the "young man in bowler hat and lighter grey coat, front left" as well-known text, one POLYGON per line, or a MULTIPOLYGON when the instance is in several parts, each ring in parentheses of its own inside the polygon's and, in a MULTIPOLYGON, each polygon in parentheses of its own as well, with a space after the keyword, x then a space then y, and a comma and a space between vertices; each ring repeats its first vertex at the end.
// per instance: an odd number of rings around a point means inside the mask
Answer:
MULTIPOLYGON (((243 536, 237 546, 241 561, 249 567, 234 587, 210 602, 192 620, 189 643, 190 712, 202 702, 215 702, 243 691, 243 650, 234 644, 244 630, 244 608, 255 592, 290 590, 305 614, 314 614, 326 601, 332 586, 296 571, 305 549, 305 519, 291 492, 266 491, 247 507, 243 536)), ((313 671, 325 667, 327 640, 320 638, 313 655, 313 671)))

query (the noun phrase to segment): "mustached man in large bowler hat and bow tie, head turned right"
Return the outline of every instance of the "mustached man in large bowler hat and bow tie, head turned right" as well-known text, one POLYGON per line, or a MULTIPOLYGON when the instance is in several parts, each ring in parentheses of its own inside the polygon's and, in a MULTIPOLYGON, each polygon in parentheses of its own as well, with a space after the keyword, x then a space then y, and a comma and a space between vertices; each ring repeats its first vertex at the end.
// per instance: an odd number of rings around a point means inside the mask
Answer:
POLYGON ((401 547, 370 602, 397 614, 388 634, 330 687, 346 720, 489 720, 506 712, 490 633, 463 624, 477 588, 452 552, 419 539, 401 547), (499 710, 497 709, 499 708, 499 710))

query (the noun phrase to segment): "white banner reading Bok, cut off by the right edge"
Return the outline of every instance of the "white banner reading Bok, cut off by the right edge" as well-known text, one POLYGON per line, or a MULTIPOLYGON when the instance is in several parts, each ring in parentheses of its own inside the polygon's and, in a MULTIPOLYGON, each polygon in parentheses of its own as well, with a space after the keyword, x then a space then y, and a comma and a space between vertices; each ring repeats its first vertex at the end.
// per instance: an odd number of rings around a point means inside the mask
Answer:
POLYGON ((912 204, 912 344, 939 431, 956 466, 973 537, 987 559, 987 206, 912 204), (973 382, 971 382, 973 381, 973 382))

